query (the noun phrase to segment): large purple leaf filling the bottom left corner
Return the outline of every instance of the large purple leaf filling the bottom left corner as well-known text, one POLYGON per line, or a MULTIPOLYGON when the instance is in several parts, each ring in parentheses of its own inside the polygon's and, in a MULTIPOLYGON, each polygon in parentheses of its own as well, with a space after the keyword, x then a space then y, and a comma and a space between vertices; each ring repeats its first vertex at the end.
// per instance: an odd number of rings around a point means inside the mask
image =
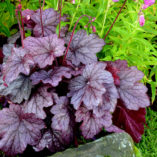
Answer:
POLYGON ((0 119, 0 150, 8 156, 22 153, 27 144, 37 144, 45 127, 41 119, 14 104, 0 111, 0 119))

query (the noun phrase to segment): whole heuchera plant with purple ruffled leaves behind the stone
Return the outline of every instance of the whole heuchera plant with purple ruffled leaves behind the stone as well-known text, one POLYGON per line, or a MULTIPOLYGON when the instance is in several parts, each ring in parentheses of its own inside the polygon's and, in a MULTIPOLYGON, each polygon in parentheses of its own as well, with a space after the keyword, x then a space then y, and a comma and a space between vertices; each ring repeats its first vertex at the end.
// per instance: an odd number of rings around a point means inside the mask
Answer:
POLYGON ((33 34, 25 38, 20 29, 22 46, 3 47, 0 150, 14 156, 31 145, 56 152, 78 134, 93 139, 103 128, 125 130, 139 142, 150 105, 143 73, 124 60, 100 62, 96 54, 105 42, 96 34, 65 26, 58 37, 56 27, 67 16, 52 8, 27 9, 22 16, 33 34))

